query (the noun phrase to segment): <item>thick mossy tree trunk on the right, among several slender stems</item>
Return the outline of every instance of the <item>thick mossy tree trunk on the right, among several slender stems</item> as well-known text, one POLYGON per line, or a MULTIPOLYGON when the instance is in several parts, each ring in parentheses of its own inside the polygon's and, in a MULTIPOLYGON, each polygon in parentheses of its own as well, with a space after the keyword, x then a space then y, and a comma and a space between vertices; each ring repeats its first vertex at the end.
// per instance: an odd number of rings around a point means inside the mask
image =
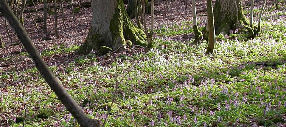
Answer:
POLYGON ((249 25, 240 0, 216 0, 214 11, 216 34, 229 34, 230 31, 249 25))

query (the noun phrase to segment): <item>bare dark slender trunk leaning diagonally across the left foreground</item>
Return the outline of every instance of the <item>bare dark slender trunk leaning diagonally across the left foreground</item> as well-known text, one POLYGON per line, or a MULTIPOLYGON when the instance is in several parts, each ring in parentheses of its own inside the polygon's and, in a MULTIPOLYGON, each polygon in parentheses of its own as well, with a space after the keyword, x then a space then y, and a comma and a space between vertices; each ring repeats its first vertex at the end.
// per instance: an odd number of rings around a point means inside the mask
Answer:
POLYGON ((0 0, 0 8, 4 16, 9 20, 11 26, 15 29, 21 42, 23 42, 24 47, 29 53, 30 57, 35 62, 35 66, 41 73, 43 78, 46 80, 50 88, 55 92, 58 99, 65 105, 66 109, 71 112, 77 122, 81 127, 100 127, 98 120, 93 120, 88 118, 88 116, 83 112, 83 109, 77 104, 77 102, 72 99, 71 95, 63 88, 57 78, 52 74, 51 70, 47 66, 46 62, 41 57, 40 53, 37 51, 35 45, 32 43, 27 32, 17 20, 11 9, 8 7, 4 0, 0 0))

